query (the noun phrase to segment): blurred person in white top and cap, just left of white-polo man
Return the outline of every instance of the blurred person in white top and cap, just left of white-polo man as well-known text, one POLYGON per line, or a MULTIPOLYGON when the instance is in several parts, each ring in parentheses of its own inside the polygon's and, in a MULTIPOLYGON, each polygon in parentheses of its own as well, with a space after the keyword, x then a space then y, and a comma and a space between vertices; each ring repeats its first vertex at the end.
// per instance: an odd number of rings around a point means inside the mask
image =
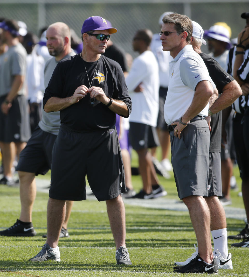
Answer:
MULTIPOLYGON (((170 13, 172 12, 164 12, 160 16, 158 21, 160 31, 162 28, 163 17, 170 13)), ((161 165, 158 164, 158 161, 155 158, 155 153, 153 155, 154 156, 153 163, 154 163, 154 166, 157 168, 157 170, 161 171, 161 174, 165 178, 169 178, 170 175, 167 173, 167 171, 171 171, 173 169, 172 169, 171 162, 168 159, 169 149, 170 149, 170 138, 169 138, 169 131, 167 130, 167 124, 164 120, 163 108, 164 108, 164 103, 167 96, 168 85, 169 85, 169 77, 168 77, 169 62, 172 61, 173 58, 169 55, 169 52, 162 51, 162 42, 160 40, 160 36, 158 33, 153 35, 150 47, 151 47, 151 51, 156 57, 158 68, 159 68, 160 87, 159 87, 159 112, 157 117, 157 134, 159 137, 159 142, 162 150, 161 165)), ((154 152, 155 152, 155 148, 154 148, 154 152)))

